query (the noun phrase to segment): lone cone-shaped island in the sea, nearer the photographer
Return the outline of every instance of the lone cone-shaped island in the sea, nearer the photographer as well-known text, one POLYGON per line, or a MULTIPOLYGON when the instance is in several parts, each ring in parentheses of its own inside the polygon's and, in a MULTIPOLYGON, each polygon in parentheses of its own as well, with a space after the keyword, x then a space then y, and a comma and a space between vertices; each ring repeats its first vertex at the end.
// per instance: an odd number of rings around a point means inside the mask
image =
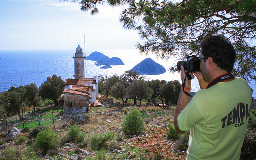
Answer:
POLYGON ((166 72, 164 66, 156 63, 151 58, 146 58, 145 60, 142 60, 131 70, 136 71, 140 75, 160 75, 166 72))

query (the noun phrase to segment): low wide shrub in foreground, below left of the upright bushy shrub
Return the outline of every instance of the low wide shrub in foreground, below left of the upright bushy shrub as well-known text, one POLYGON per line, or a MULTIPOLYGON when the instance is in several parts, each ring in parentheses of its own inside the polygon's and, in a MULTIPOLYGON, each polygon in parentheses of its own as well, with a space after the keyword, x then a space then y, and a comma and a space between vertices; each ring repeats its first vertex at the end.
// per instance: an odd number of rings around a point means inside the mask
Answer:
POLYGON ((96 150, 119 149, 119 146, 117 145, 115 137, 116 137, 116 134, 114 132, 107 132, 104 134, 98 133, 98 134, 94 134, 90 138, 90 143, 91 143, 92 148, 96 149, 96 150))

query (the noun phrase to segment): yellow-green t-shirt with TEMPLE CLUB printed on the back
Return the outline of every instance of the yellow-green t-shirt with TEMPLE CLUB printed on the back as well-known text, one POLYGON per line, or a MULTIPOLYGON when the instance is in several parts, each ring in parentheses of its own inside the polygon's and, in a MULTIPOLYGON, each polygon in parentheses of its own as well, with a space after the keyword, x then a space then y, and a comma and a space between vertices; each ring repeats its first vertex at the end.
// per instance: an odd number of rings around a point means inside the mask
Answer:
POLYGON ((239 160, 252 105, 242 78, 198 91, 178 116, 190 131, 187 160, 239 160))

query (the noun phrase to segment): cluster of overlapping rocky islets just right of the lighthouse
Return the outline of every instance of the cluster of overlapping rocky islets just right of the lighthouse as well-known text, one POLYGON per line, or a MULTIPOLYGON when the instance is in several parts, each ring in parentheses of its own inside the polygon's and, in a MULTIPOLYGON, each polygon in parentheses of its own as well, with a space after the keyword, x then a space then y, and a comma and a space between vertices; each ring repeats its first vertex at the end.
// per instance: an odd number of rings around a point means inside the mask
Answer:
POLYGON ((105 65, 100 68, 112 68, 110 65, 124 65, 124 62, 118 57, 109 58, 101 52, 92 52, 89 56, 85 58, 85 60, 95 60, 96 66, 105 65))

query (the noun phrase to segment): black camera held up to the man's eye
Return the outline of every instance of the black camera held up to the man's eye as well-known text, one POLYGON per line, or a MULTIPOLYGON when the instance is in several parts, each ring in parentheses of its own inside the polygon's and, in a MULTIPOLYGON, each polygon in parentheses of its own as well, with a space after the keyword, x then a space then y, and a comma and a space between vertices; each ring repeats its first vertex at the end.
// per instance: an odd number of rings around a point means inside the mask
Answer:
POLYGON ((177 69, 181 70, 180 66, 183 66, 187 72, 199 72, 200 59, 196 55, 186 56, 187 61, 181 60, 177 63, 177 69))

